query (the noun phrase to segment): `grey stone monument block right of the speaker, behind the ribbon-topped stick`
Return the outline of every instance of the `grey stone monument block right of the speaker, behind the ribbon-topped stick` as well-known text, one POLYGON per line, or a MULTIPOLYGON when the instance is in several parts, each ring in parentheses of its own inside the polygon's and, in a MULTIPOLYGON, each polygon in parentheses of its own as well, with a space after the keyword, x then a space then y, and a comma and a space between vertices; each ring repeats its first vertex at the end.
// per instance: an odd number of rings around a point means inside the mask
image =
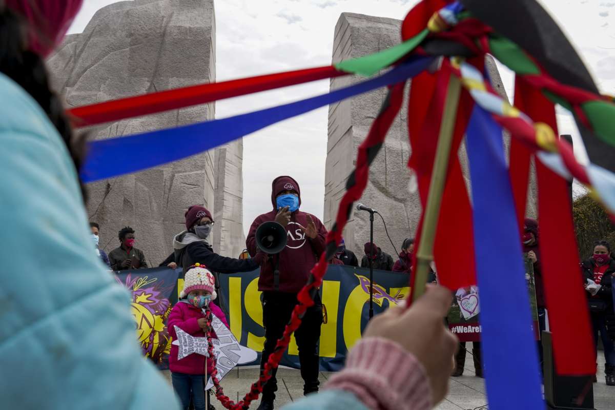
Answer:
MULTIPOLYGON (((333 63, 362 57, 398 44, 400 25, 400 20, 392 18, 341 14, 335 27, 333 63)), ((486 65, 494 88, 506 97, 493 59, 488 58, 486 65)), ((361 80, 361 77, 336 77, 331 79, 330 89, 345 87, 361 80)), ((335 220, 339 202, 346 191, 346 179, 354 169, 359 144, 367 136, 385 97, 386 90, 379 89, 331 104, 329 107, 323 218, 328 228, 335 220)), ((402 109, 391 125, 378 157, 370 167, 370 180, 360 200, 384 216, 393 243, 389 241, 383 221, 378 216, 375 216, 374 242, 394 259, 400 251, 403 239, 414 237, 421 215, 419 195, 411 189, 410 171, 407 167, 411 153, 407 130, 407 98, 408 90, 402 109)), ((467 156, 463 145, 458 155, 469 187, 467 156)), ((528 204, 528 213, 534 215, 533 196, 528 200, 528 204)), ((354 251, 360 259, 364 254, 363 243, 369 241, 369 214, 355 211, 343 234, 347 248, 354 251)))

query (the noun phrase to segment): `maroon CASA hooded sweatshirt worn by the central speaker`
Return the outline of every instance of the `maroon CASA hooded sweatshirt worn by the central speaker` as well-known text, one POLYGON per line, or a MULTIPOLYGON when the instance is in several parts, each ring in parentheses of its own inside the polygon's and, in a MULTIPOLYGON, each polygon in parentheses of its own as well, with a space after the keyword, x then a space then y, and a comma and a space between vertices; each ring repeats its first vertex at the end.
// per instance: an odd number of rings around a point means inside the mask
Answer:
MULTIPOLYGON (((256 229, 266 221, 274 221, 277 215, 276 197, 280 192, 296 191, 299 194, 299 206, 301 207, 301 190, 299 184, 290 176, 278 176, 271 184, 271 204, 273 210, 258 216, 245 240, 246 248, 250 256, 256 254, 256 229)), ((318 261, 320 254, 325 251, 325 237, 327 229, 318 218, 309 213, 296 210, 290 215, 290 222, 286 226, 287 244, 286 248, 273 258, 264 262, 261 266, 261 275, 258 279, 258 290, 260 291, 280 291, 285 293, 298 293, 308 282, 310 270, 318 261), (300 229, 298 224, 308 226, 308 215, 312 217, 318 235, 310 239, 300 229), (274 289, 274 266, 279 263, 280 282, 279 289, 274 289)))

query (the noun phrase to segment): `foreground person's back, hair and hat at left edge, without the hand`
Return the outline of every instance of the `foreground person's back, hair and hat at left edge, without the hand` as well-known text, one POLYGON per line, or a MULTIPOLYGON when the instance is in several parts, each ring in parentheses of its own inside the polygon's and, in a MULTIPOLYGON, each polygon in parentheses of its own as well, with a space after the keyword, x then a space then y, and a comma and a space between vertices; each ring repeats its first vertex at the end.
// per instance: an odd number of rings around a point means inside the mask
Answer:
POLYGON ((0 403, 178 409, 141 355, 129 294, 92 251, 70 128, 47 85, 42 58, 79 6, 0 1, 0 403))

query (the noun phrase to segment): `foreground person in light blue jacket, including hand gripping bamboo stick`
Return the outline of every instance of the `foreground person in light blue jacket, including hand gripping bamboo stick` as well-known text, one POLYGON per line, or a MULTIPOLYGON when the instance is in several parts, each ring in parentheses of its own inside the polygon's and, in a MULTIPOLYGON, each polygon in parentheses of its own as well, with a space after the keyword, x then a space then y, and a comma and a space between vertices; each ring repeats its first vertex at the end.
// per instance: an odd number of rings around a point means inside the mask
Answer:
MULTIPOLYGON (((80 156, 47 84, 42 58, 81 1, 0 0, 0 403, 179 409, 141 355, 129 294, 92 252, 80 156)), ((371 320, 343 371, 287 409, 427 410, 442 400, 457 339, 442 323, 450 291, 429 286, 411 309, 371 320)))

